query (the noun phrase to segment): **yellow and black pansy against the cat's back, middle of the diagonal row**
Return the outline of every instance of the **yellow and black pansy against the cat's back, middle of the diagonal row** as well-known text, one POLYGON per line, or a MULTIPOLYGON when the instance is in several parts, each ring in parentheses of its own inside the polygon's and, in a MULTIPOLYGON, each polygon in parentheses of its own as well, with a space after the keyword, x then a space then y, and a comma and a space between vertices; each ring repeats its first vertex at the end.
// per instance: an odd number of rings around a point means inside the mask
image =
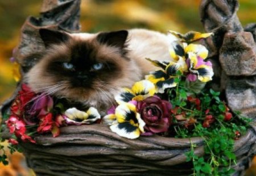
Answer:
POLYGON ((157 70, 150 72, 150 75, 146 75, 146 79, 155 84, 156 93, 164 93, 164 89, 176 87, 175 78, 177 71, 183 72, 187 70, 185 59, 179 57, 177 62, 159 62, 147 59, 155 66, 163 68, 163 70, 157 70))

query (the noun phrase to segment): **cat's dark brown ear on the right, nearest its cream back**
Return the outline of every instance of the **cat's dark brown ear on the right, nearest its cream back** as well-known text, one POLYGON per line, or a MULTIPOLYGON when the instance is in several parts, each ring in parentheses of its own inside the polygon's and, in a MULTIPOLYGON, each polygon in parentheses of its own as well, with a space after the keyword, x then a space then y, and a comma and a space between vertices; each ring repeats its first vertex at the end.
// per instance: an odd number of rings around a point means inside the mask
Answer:
POLYGON ((101 32, 97 36, 100 44, 106 44, 109 46, 116 46, 120 49, 125 48, 128 31, 114 31, 114 32, 101 32))

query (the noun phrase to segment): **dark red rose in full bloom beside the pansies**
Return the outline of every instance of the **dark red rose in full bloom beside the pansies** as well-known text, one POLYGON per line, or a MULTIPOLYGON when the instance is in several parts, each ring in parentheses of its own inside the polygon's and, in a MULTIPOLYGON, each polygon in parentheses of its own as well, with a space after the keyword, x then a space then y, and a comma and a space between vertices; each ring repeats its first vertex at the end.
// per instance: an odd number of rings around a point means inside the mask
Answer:
POLYGON ((146 123, 144 135, 152 135, 159 132, 166 132, 171 124, 172 105, 158 96, 147 97, 137 104, 137 111, 141 114, 142 120, 146 123))

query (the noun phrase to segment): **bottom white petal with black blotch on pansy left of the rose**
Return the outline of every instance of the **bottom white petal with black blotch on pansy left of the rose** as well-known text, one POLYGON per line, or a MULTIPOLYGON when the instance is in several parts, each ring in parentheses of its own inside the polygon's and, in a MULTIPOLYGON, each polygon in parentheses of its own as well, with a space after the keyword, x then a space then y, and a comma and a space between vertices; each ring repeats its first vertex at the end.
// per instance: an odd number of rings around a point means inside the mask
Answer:
POLYGON ((138 138, 141 134, 138 127, 131 125, 129 122, 118 123, 115 125, 110 126, 110 129, 117 133, 119 136, 128 138, 128 139, 135 139, 138 138))

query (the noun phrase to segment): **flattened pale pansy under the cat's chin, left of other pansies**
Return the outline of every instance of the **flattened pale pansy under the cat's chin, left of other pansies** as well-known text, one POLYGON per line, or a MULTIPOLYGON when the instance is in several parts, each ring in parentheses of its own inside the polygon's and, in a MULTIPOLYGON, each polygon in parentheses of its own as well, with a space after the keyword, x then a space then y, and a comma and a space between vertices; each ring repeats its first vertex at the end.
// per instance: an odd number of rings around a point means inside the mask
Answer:
POLYGON ((97 119, 101 118, 101 115, 98 113, 98 110, 93 107, 90 107, 86 112, 76 108, 69 108, 65 111, 63 118, 68 124, 82 125, 96 122, 97 119))

